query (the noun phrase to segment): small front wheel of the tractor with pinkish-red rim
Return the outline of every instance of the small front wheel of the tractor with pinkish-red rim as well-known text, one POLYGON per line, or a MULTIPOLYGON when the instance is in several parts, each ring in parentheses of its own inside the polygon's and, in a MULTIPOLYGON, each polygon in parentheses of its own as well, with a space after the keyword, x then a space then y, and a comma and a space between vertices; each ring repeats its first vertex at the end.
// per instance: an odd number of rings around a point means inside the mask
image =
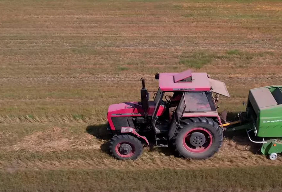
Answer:
POLYGON ((138 158, 143 150, 139 139, 131 135, 115 135, 110 141, 110 153, 119 160, 138 158))

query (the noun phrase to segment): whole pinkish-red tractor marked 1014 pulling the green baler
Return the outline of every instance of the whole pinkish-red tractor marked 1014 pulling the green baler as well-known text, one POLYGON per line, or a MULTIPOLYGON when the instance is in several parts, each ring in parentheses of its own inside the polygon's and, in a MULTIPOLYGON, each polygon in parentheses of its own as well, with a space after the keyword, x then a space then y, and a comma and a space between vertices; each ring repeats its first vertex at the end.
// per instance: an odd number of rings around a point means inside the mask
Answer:
POLYGON ((207 73, 190 70, 157 73, 155 79, 159 79, 159 88, 154 101, 149 101, 145 80, 141 79, 141 102, 109 106, 108 130, 114 135, 111 155, 134 160, 149 145, 172 147, 180 156, 193 159, 206 159, 218 152, 223 142, 224 118, 217 112, 216 101, 218 95, 229 97, 225 84, 209 78, 207 73), (169 120, 171 98, 179 94, 169 120))

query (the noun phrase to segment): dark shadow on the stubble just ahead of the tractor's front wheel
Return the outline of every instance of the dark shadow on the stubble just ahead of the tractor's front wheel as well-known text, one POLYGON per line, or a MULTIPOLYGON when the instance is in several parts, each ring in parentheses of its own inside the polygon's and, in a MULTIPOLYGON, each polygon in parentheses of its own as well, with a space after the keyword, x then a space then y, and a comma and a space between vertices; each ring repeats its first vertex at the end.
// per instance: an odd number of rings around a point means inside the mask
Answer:
POLYGON ((110 154, 109 147, 110 147, 110 139, 111 136, 107 132, 107 124, 99 124, 99 125, 88 125, 86 127, 86 132, 90 135, 95 136, 97 139, 104 140, 100 149, 106 153, 110 154))

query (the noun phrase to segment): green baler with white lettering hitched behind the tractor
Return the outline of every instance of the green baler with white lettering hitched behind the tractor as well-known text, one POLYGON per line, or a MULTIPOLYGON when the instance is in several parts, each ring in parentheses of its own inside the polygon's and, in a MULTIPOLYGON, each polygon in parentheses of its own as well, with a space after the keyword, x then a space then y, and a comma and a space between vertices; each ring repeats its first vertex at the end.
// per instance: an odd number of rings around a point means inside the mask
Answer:
POLYGON ((226 130, 246 129, 250 141, 261 143, 261 152, 275 160, 282 152, 282 86, 251 89, 246 112, 238 117, 239 120, 223 125, 226 130), (252 131, 261 141, 251 139, 252 131))

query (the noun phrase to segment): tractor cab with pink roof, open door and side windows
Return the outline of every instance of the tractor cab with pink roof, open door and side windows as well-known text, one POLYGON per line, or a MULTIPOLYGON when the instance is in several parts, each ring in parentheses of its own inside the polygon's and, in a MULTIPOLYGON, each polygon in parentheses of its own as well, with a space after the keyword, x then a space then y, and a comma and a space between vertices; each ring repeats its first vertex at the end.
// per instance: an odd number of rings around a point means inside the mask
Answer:
MULTIPOLYGON (((156 74, 156 79, 159 79, 159 89, 154 95, 155 108, 152 113, 152 127, 155 134, 163 138, 156 137, 157 142, 158 140, 165 141, 167 133, 168 139, 174 137, 184 114, 185 117, 212 117, 218 124, 221 123, 212 92, 229 97, 223 82, 209 79, 207 73, 192 74, 190 70, 182 73, 156 74), (168 97, 165 97, 166 101, 163 100, 165 93, 173 93, 173 95, 180 93, 182 95, 174 111, 172 121, 168 120, 171 101, 168 97)), ((157 143, 157 145, 160 144, 157 143)))

